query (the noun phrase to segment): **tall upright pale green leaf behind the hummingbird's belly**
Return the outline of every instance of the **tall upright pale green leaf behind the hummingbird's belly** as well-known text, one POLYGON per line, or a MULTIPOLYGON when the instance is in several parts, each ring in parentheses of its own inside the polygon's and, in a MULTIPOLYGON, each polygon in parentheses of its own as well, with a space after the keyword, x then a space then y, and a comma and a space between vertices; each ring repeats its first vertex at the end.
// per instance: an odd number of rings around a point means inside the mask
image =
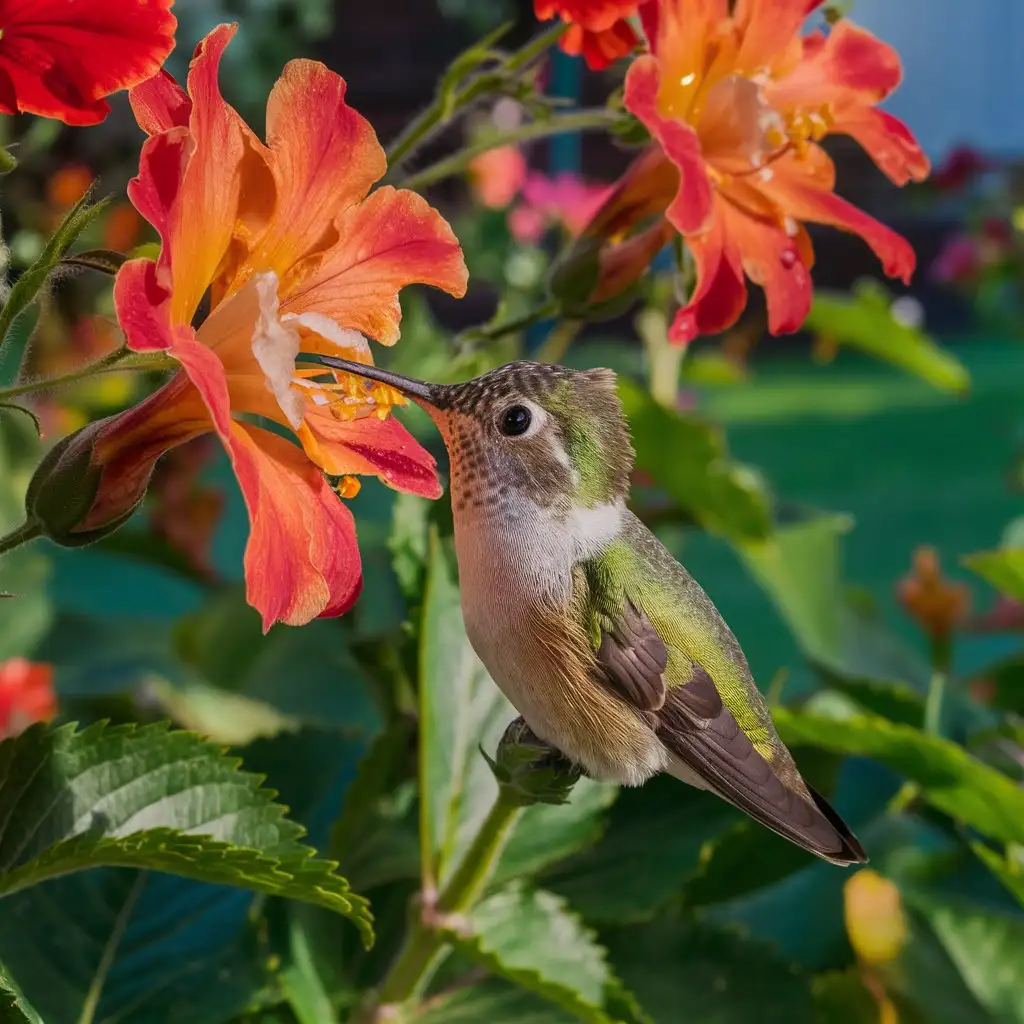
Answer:
POLYGON ((436 536, 420 631, 420 844, 423 876, 443 885, 498 794, 493 751, 515 711, 466 637, 455 560, 436 536))

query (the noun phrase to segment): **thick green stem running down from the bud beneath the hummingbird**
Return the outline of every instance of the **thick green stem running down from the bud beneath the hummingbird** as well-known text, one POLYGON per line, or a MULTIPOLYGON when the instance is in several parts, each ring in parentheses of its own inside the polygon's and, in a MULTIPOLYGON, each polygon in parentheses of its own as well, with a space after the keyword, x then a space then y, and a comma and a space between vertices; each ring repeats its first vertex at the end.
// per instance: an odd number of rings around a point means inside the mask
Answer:
POLYGON ((414 915, 404 945, 362 1020, 389 1019, 391 1014, 385 1008, 408 1002, 430 980, 447 945, 443 922, 438 922, 440 927, 437 927, 431 918, 464 913, 479 899, 522 809, 516 796, 502 786, 437 902, 433 906, 420 907, 414 915))

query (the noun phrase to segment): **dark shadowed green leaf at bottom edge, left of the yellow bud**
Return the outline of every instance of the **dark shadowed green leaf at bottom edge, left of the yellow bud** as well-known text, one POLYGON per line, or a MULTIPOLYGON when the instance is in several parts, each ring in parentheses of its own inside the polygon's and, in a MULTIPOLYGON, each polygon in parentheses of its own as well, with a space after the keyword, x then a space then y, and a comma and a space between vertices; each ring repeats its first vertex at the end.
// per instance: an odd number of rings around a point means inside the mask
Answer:
POLYGON ((660 915, 605 937, 612 968, 655 1024, 813 1024, 807 977, 770 946, 660 915))

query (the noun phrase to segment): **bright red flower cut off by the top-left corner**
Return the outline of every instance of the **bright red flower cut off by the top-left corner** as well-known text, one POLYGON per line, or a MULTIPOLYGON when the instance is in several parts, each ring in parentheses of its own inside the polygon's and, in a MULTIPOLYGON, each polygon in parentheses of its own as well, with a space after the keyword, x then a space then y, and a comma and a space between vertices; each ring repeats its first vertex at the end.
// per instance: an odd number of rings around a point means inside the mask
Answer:
POLYGON ((104 96, 156 75, 174 0, 0 0, 0 112, 98 124, 104 96))

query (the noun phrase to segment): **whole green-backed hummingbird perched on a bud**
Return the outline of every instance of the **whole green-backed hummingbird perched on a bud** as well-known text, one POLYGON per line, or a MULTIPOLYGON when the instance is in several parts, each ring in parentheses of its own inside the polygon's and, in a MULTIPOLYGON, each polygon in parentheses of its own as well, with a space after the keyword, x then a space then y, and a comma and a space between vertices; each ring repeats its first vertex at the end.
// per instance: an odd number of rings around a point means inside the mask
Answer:
POLYGON ((440 430, 466 632, 537 736, 592 778, 665 772, 834 864, 866 861, 802 778, 711 598, 627 507, 614 373, 520 360, 430 384, 300 358, 395 388, 440 430))

